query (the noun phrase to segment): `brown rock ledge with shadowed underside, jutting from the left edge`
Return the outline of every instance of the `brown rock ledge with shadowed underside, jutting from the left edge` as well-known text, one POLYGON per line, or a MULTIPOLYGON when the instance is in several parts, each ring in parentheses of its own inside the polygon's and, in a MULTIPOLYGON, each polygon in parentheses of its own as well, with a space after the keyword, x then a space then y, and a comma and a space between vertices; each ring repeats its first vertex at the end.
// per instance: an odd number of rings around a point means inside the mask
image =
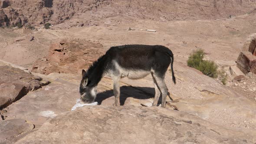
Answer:
POLYGON ((0 109, 19 100, 29 91, 41 88, 48 82, 40 77, 10 66, 0 66, 0 109))

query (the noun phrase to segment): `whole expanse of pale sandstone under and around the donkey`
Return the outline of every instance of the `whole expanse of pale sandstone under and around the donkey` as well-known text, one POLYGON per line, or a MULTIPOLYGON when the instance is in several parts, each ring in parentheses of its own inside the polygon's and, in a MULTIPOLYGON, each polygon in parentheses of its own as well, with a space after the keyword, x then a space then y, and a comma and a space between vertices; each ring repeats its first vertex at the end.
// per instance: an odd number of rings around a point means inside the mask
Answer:
MULTIPOLYGON (((170 98, 167 98, 167 108, 141 106, 141 104, 150 105, 153 101, 154 84, 150 75, 137 81, 121 80, 120 100, 123 106, 120 108, 112 106, 114 103, 112 79, 104 77, 97 88, 96 101, 101 106, 86 106, 71 111, 76 99, 79 98, 81 75, 33 73, 48 79, 51 83, 9 105, 3 109, 7 112, 1 115, 5 121, 21 118, 27 123, 34 124, 36 129, 39 128, 38 131, 30 131, 30 134, 18 143, 41 143, 42 139, 46 143, 57 143, 57 141, 104 143, 103 139, 109 143, 110 138, 113 141, 117 133, 125 134, 128 138, 119 137, 113 143, 121 141, 130 143, 132 139, 138 140, 134 143, 148 140, 154 142, 158 137, 164 137, 162 139, 166 143, 185 143, 197 141, 196 139, 200 143, 203 143, 203 140, 212 143, 255 141, 253 139, 256 137, 254 101, 248 100, 244 95, 231 91, 216 80, 181 63, 175 62, 174 69, 177 84, 175 86, 172 84, 171 72, 167 72, 165 78, 173 99, 171 102, 170 98), (172 105, 180 111, 171 111, 172 105), (155 128, 160 130, 151 131, 155 128), (150 137, 151 139, 147 140, 146 136, 140 135, 144 133, 147 137, 148 135, 156 135, 156 137, 150 137), (201 135, 199 137, 196 134, 201 135), (98 138, 95 139, 95 137, 98 138), (210 140, 210 137, 213 139, 210 140)), ((3 141, 3 143, 6 142, 8 141, 3 141)))

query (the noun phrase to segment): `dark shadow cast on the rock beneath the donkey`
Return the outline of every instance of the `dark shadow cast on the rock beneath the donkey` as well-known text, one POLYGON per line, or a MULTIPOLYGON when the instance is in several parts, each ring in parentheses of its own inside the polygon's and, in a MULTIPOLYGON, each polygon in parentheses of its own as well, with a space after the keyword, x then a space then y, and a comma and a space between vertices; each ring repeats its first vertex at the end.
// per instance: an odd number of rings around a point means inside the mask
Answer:
MULTIPOLYGON (((149 98, 154 98, 154 94, 155 94, 154 88, 121 86, 120 87, 120 105, 124 105, 126 99, 129 97, 136 98, 136 99, 149 99, 149 98)), ((107 90, 105 92, 98 93, 95 101, 97 101, 98 104, 101 105, 102 101, 112 96, 114 96, 113 90, 107 90)))

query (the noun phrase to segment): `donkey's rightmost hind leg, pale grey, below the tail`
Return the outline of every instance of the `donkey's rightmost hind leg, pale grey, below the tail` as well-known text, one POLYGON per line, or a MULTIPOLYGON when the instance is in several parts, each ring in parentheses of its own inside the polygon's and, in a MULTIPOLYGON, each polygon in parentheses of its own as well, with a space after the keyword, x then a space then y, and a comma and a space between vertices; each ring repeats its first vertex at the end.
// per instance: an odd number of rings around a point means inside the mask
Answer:
POLYGON ((167 97, 167 93, 168 93, 168 88, 164 82, 164 76, 158 76, 158 75, 154 75, 154 78, 158 84, 158 87, 161 91, 162 94, 162 103, 161 103, 161 107, 165 108, 166 107, 166 97, 167 97))

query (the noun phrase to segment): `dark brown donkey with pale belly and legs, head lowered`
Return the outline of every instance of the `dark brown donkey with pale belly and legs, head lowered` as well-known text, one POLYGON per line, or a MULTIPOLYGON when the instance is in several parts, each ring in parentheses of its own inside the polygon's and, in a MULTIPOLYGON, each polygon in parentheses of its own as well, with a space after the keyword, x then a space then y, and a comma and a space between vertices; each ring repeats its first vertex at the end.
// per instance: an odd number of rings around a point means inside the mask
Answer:
POLYGON ((119 106, 120 79, 124 77, 142 79, 151 74, 155 85, 152 106, 158 104, 158 99, 162 95, 161 106, 165 108, 168 89, 164 77, 170 63, 172 80, 176 84, 173 62, 173 53, 165 46, 125 45, 111 47, 105 55, 93 62, 87 71, 82 70, 82 81, 79 88, 81 100, 85 103, 94 102, 98 83, 104 75, 108 75, 114 82, 115 103, 113 105, 119 106))

